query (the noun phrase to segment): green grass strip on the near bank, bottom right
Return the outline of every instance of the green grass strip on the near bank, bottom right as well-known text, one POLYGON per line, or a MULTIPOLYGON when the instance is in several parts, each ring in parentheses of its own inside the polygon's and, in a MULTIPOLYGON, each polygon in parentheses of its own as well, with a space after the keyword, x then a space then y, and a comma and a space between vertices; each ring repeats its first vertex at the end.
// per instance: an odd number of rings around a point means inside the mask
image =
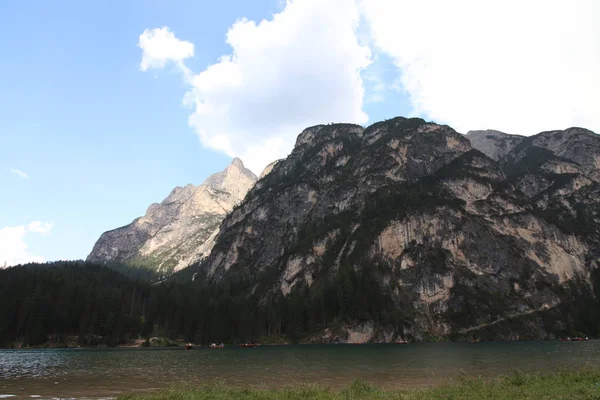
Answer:
POLYGON ((433 388, 381 390, 355 381, 341 390, 318 386, 295 389, 233 389, 224 385, 200 388, 173 387, 121 400, 460 400, 460 399, 552 399, 600 400, 600 369, 554 374, 523 373, 484 380, 461 377, 433 388))

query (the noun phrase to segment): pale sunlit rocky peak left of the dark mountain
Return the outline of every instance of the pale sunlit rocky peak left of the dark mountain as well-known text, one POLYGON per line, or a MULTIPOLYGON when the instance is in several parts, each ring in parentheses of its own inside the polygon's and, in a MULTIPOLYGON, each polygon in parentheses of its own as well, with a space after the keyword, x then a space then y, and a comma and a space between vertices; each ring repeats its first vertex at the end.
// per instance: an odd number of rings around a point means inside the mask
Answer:
POLYGON ((236 158, 202 185, 176 187, 143 217, 103 233, 87 260, 138 263, 163 273, 185 268, 210 253, 219 224, 255 182, 236 158))

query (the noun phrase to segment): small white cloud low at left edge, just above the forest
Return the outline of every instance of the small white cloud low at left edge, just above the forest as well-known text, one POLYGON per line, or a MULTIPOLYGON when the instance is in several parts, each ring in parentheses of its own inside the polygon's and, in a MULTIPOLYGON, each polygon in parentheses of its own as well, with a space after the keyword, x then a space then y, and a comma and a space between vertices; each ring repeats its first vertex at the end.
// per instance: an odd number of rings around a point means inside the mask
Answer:
POLYGON ((52 222, 33 221, 28 225, 0 229, 0 268, 28 262, 44 262, 43 257, 27 252, 25 239, 28 233, 49 235, 53 225, 52 222))

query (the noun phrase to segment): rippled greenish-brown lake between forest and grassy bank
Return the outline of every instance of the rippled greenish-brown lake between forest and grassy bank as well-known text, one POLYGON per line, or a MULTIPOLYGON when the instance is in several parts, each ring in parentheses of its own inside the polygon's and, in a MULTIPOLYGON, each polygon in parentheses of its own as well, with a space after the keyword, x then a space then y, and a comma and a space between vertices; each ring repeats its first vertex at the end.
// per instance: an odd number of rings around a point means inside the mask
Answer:
POLYGON ((600 367, 600 340, 167 349, 0 350, 0 398, 107 398, 187 382, 233 387, 362 379, 394 389, 515 369, 600 367))

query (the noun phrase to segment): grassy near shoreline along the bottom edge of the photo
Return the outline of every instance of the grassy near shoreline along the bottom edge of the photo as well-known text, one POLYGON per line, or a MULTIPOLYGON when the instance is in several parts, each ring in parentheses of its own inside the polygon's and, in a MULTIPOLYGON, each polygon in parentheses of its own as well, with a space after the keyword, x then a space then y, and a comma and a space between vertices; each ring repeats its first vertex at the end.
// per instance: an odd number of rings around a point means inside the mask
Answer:
MULTIPOLYGON (((523 372, 515 369, 496 376, 462 374, 455 378, 440 380, 427 385, 406 385, 385 388, 366 380, 356 379, 341 386, 327 384, 298 383, 290 386, 229 385, 223 381, 193 385, 180 383, 162 388, 142 389, 141 387, 116 392, 104 387, 98 391, 85 393, 76 390, 77 395, 66 398, 111 399, 111 400, 349 400, 349 399, 597 399, 600 396, 600 368, 581 367, 576 370, 561 369, 556 372, 523 372), (112 391, 112 393, 110 393, 112 391)), ((385 384, 383 384, 385 385, 385 384)), ((14 389, 14 388, 13 388, 14 389)), ((0 391, 0 398, 65 398, 57 397, 56 390, 41 389, 36 394, 19 393, 8 388, 0 391), (54 393, 50 395, 50 393, 54 393)), ((62 389, 66 395, 67 392, 62 389)))

